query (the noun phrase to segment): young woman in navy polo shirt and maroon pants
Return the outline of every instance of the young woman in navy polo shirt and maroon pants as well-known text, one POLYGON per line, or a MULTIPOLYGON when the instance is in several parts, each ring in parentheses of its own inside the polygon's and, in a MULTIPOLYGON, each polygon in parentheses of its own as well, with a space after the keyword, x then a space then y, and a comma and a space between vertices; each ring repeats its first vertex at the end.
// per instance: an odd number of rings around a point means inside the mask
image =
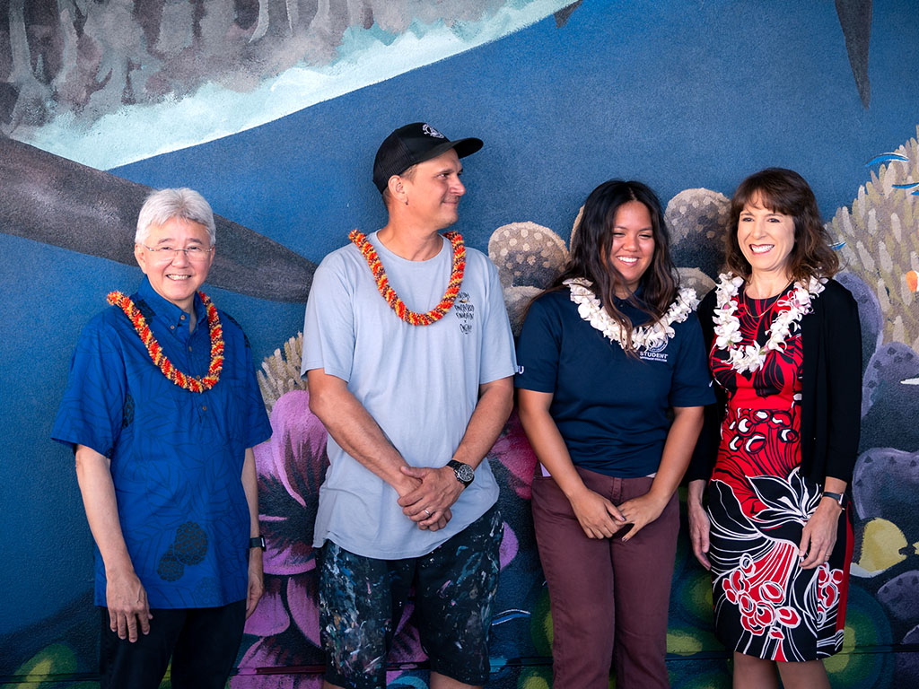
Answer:
POLYGON ((554 686, 667 687, 667 603, 683 478, 714 401, 692 289, 639 182, 584 203, 562 275, 517 344, 520 420, 539 457, 533 521, 554 686))

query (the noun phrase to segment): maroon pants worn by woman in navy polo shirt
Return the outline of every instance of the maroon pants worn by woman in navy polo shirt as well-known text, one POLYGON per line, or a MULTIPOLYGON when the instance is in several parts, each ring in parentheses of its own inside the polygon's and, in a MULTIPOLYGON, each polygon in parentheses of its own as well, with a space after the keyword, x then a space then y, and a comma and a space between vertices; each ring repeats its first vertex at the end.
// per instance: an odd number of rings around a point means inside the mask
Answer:
MULTIPOLYGON (((614 479, 577 469, 592 491, 619 505, 651 489, 651 478, 614 479)), ((550 477, 533 480, 533 523, 552 611, 553 686, 669 687, 664 665, 667 606, 679 530, 676 496, 626 543, 588 538, 550 477)))

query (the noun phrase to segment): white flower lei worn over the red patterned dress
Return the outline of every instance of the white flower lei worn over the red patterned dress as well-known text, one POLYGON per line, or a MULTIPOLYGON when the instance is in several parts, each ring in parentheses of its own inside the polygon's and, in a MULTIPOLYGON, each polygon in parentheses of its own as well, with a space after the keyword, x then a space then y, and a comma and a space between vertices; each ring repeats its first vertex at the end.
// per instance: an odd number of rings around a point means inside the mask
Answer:
POLYGON ((785 338, 789 336, 791 323, 800 322, 805 314, 811 312, 811 299, 823 292, 826 278, 811 277, 806 286, 796 282, 788 297, 776 302, 778 306, 789 308, 779 313, 772 327, 766 331, 769 336, 766 344, 754 342, 746 345, 741 344, 741 322, 737 318, 736 299, 743 282, 743 277, 722 273, 715 288, 715 346, 728 352, 728 361, 739 373, 755 371, 766 363, 769 352, 785 349, 785 338))

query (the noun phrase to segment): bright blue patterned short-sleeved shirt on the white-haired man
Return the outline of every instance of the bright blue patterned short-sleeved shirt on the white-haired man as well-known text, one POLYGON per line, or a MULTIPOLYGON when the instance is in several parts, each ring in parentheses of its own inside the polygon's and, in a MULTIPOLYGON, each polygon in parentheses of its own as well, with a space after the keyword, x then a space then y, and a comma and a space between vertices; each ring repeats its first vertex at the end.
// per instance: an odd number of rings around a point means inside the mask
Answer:
MULTIPOLYGON (((198 325, 144 278, 131 299, 179 370, 210 365, 204 305, 198 325)), ((110 307, 90 321, 71 361, 51 437, 111 459, 119 521, 152 608, 215 607, 243 600, 248 586, 249 508, 245 449, 271 435, 243 330, 220 312, 220 381, 203 393, 165 378, 127 316, 110 307)), ((97 605, 106 575, 96 548, 97 605)))

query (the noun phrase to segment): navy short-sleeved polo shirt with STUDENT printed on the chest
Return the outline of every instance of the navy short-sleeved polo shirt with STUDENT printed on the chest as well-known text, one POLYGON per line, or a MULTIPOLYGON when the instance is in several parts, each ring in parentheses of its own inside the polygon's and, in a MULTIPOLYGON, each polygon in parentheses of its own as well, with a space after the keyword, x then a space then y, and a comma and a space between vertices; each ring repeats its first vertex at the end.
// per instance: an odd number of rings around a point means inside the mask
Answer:
MULTIPOLYGON (((631 322, 648 315, 617 299, 631 322)), ((695 313, 663 347, 628 356, 578 314, 567 288, 536 299, 517 340, 517 388, 552 393, 550 414, 575 466, 636 478, 657 471, 670 407, 715 401, 695 313)))

